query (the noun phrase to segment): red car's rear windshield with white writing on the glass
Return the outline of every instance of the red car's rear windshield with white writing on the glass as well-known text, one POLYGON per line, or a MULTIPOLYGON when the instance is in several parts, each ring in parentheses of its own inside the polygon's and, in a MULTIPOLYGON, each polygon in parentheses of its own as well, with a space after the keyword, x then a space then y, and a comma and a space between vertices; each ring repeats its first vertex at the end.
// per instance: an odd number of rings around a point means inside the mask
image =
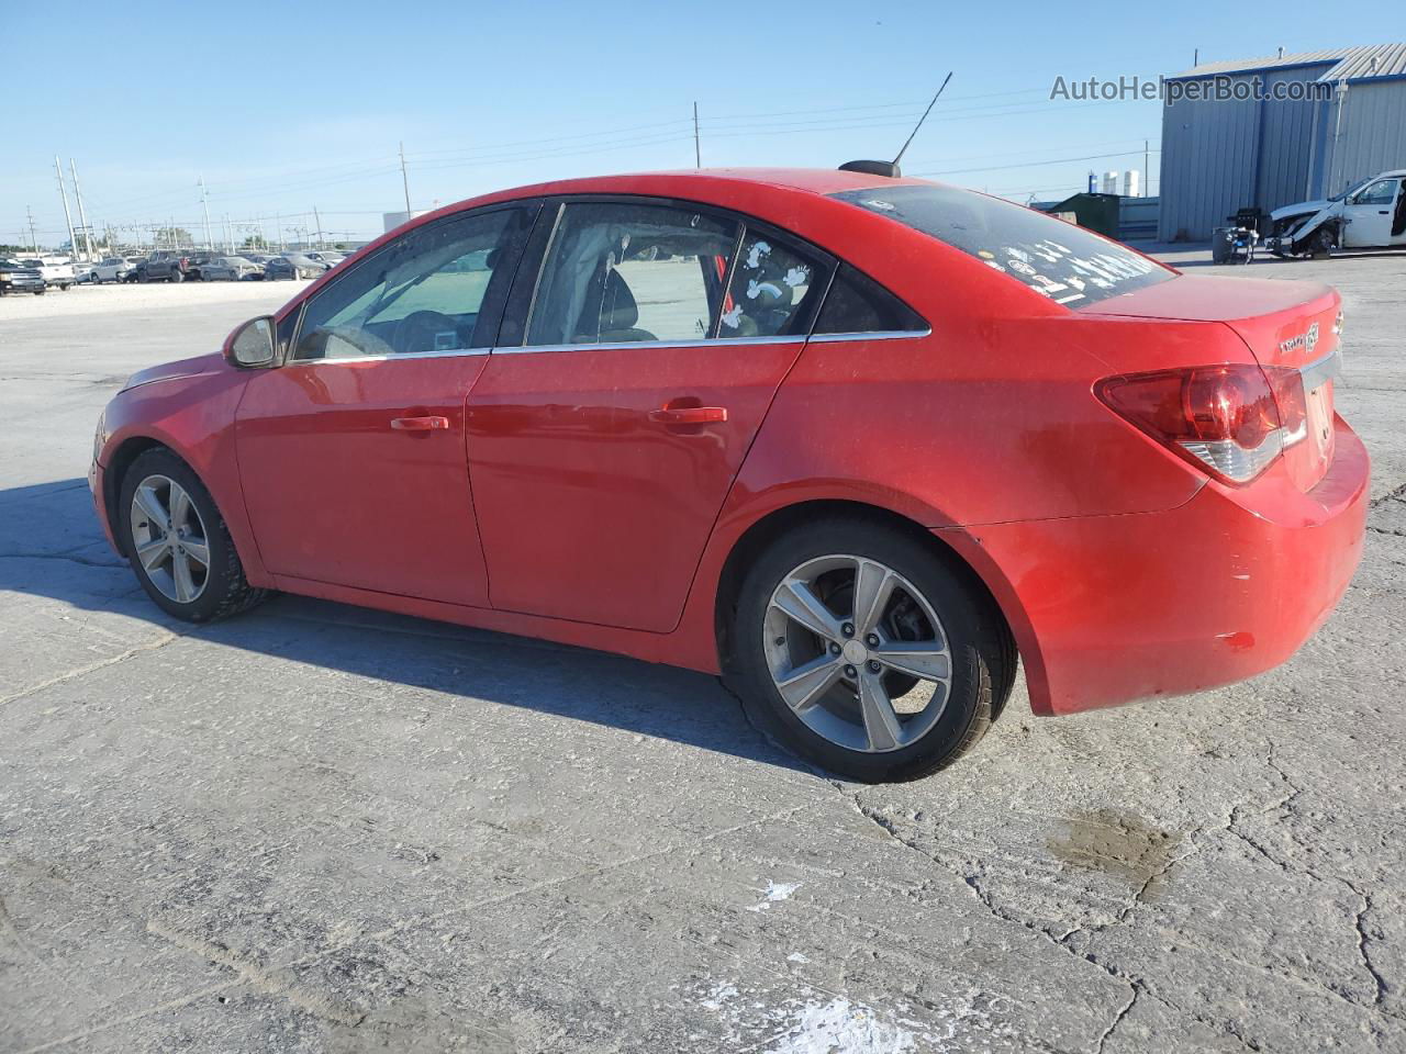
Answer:
POLYGON ((1081 226, 955 187, 870 187, 831 197, 960 249, 1070 308, 1175 277, 1175 271, 1081 226))

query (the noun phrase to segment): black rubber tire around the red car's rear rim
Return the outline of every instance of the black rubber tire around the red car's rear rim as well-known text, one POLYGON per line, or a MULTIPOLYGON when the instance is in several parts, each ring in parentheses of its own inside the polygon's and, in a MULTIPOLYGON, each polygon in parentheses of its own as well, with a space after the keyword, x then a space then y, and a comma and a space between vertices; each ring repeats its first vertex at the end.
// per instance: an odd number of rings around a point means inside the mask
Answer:
POLYGON ((1015 677, 1010 631, 970 572, 924 538, 844 516, 789 531, 756 558, 738 594, 730 639, 728 680, 751 721, 801 757, 862 783, 915 780, 952 765, 986 735, 1015 677), (898 749, 870 753, 827 739, 796 717, 772 679, 763 649, 772 593, 792 569, 828 554, 853 554, 893 568, 922 593, 946 631, 952 655, 946 705, 932 728, 898 749))

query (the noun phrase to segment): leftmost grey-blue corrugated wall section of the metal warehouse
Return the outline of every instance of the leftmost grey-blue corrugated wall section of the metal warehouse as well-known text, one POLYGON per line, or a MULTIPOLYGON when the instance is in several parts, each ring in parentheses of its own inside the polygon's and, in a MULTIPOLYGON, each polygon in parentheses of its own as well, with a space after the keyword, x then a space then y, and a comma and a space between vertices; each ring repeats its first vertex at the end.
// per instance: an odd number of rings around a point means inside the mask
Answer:
POLYGON ((1254 197, 1260 104, 1180 98, 1161 112, 1157 236, 1164 242, 1206 240, 1212 228, 1254 197))

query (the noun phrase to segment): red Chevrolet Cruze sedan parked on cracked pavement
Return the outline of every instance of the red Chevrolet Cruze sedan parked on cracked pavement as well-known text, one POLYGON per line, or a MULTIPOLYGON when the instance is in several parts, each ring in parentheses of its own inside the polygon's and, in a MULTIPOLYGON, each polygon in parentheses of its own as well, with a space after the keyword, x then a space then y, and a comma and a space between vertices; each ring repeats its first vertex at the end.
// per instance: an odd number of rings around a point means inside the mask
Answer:
POLYGON ((908 779, 1017 656, 1069 714, 1327 617, 1368 482, 1339 304, 920 180, 569 180, 136 374, 93 495, 177 617, 278 589, 723 673, 806 757, 908 779))

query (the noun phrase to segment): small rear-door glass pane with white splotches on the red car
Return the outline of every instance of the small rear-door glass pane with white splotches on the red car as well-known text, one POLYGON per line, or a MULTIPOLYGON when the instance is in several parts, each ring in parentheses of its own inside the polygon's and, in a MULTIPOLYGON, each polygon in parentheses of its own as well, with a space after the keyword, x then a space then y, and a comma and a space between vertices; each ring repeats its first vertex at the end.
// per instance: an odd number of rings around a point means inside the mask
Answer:
POLYGON ((820 297, 817 260, 775 235, 748 229, 728 281, 718 336, 804 336, 820 297))

